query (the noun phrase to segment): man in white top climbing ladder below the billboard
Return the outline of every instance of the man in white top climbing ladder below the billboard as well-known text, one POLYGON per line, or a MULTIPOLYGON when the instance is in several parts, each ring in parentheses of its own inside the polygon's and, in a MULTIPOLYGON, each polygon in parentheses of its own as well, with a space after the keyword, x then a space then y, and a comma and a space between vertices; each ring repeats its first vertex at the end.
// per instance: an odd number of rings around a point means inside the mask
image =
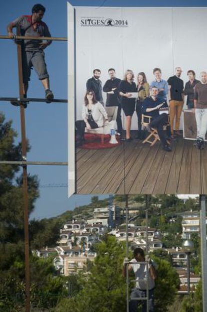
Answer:
POLYGON ((137 305, 141 301, 142 312, 146 312, 146 300, 136 300, 135 298, 146 298, 147 297, 147 275, 148 275, 148 307, 149 312, 154 311, 154 280, 156 278, 156 272, 151 261, 148 264, 147 274, 147 263, 145 262, 144 251, 141 248, 135 248, 133 251, 134 258, 129 262, 128 258, 123 261, 123 275, 126 277, 126 265, 128 265, 128 272, 133 270, 136 285, 132 289, 129 302, 129 311, 136 312, 137 305), (139 263, 140 262, 140 263, 139 263))

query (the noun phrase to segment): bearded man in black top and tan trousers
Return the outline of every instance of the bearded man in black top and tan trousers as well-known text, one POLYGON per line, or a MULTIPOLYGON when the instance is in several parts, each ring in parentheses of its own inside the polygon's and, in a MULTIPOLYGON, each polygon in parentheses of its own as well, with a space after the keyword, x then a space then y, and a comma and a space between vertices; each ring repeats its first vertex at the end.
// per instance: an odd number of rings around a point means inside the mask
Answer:
POLYGON ((179 132, 179 122, 180 122, 180 116, 182 112, 183 107, 183 99, 184 99, 184 93, 183 93, 183 80, 180 79, 180 75, 182 73, 182 70, 180 67, 175 67, 175 75, 172 77, 169 77, 167 80, 169 85, 169 118, 170 118, 170 127, 171 127, 171 134, 173 135, 173 129, 174 129, 174 119, 175 119, 175 136, 180 136, 179 132))

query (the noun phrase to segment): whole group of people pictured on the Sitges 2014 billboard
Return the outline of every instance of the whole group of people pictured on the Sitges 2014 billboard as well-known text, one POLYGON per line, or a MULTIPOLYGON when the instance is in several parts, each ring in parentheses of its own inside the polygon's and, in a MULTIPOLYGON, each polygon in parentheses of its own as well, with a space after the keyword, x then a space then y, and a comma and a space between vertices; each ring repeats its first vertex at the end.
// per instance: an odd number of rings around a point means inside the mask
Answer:
POLYGON ((154 68, 154 80, 149 84, 144 72, 137 74, 136 83, 132 70, 126 70, 123 80, 116 77, 115 69, 109 68, 109 79, 103 87, 100 80, 101 71, 93 70, 93 76, 86 82, 86 94, 82 108, 82 120, 76 121, 77 145, 84 140, 84 128, 98 128, 108 123, 104 109, 102 92, 106 93, 105 106, 117 106, 117 134, 126 142, 131 141, 131 118, 136 111, 137 138, 143 139, 141 115, 151 117, 148 130, 156 128, 162 148, 171 151, 171 140, 181 136, 179 131, 180 116, 184 104, 184 95, 187 96, 188 109, 195 109, 197 138, 195 146, 204 148, 205 133, 207 131, 207 73, 200 73, 200 81, 195 79, 193 70, 187 71, 188 81, 183 83, 180 78, 182 70, 175 68, 173 76, 167 81, 161 77, 161 69, 154 68), (124 112, 125 136, 121 121, 121 109, 124 112), (161 112, 164 110, 164 112, 161 112), (105 122, 105 123, 104 123, 105 122))

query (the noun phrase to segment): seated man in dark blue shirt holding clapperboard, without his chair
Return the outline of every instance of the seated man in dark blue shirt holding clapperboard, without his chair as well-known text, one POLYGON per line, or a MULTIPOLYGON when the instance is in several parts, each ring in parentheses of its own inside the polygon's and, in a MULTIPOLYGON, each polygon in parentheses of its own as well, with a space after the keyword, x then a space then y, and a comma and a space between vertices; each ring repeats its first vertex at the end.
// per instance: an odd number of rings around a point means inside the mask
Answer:
POLYGON ((167 140, 171 139, 170 126, 168 123, 168 114, 161 113, 159 114, 160 107, 168 106, 165 101, 161 101, 158 98, 158 88, 156 86, 151 87, 151 96, 147 97, 142 104, 142 113, 147 116, 151 116, 151 122, 149 123, 149 128, 155 128, 159 135, 162 148, 165 151, 171 151, 171 147, 167 140), (163 126, 166 127, 166 131, 164 131, 163 126))

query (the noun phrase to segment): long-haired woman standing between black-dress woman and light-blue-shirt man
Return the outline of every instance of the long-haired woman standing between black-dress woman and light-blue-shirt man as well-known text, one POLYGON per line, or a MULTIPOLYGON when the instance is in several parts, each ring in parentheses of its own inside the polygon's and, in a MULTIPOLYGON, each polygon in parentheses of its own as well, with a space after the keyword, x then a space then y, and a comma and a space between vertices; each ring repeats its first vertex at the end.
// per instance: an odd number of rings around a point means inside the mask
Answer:
POLYGON ((138 136, 137 138, 143 139, 144 135, 141 131, 141 105, 146 97, 149 96, 149 84, 146 81, 144 72, 140 72, 137 75, 137 92, 138 98, 136 100, 136 115, 138 119, 138 136))

